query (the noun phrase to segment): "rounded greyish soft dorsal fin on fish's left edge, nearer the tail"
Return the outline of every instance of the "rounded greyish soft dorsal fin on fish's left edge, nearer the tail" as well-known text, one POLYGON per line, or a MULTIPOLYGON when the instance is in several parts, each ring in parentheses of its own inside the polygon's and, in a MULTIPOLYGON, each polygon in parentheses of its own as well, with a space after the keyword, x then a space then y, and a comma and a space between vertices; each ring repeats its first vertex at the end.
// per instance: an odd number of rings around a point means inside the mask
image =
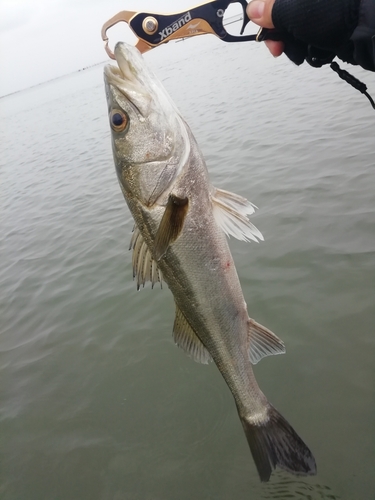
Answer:
POLYGON ((186 351, 194 361, 205 365, 208 364, 209 361, 212 361, 210 353, 204 347, 177 305, 176 317, 173 325, 173 338, 176 344, 186 351))

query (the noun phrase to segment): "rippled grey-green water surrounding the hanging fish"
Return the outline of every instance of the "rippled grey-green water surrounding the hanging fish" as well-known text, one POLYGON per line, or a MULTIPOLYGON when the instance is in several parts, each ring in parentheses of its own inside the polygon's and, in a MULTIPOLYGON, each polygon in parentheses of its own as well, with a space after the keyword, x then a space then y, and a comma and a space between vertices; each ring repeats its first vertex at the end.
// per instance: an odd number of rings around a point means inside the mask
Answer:
POLYGON ((146 59, 213 184, 259 207, 265 242, 230 245, 287 354, 255 373, 318 475, 259 483, 216 367, 173 344, 169 290, 136 292, 94 68, 0 100, 0 498, 373 500, 373 110, 258 46, 207 37, 146 59))

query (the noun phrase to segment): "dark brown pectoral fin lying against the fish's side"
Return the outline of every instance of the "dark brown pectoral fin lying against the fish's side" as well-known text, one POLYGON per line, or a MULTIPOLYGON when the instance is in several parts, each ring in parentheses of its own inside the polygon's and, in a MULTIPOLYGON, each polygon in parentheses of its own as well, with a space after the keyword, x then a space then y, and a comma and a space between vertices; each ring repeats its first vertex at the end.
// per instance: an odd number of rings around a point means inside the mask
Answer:
POLYGON ((169 245, 176 241, 181 233, 188 207, 188 198, 179 198, 173 194, 169 196, 155 237, 154 255, 157 261, 164 256, 169 245))

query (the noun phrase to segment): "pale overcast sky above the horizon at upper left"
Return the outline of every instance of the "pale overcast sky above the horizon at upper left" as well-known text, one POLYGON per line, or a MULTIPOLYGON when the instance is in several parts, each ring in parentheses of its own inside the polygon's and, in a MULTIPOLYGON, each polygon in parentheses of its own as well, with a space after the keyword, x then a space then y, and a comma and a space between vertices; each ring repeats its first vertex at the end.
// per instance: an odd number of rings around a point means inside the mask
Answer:
MULTIPOLYGON (((194 0, 0 0, 0 96, 105 61, 101 27, 121 10, 168 13, 197 3, 194 0)), ((113 33, 115 37, 134 40, 125 23, 120 23, 113 33)))

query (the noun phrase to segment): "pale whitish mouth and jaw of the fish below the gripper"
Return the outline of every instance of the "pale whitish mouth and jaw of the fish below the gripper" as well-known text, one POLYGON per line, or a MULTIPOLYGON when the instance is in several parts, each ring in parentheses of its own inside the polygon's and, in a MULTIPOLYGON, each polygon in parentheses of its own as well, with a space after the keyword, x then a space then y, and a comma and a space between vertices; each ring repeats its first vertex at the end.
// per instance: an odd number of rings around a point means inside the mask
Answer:
POLYGON ((104 68, 106 83, 115 87, 146 118, 150 112, 152 95, 143 70, 143 59, 135 47, 118 42, 114 50, 118 66, 104 68))

